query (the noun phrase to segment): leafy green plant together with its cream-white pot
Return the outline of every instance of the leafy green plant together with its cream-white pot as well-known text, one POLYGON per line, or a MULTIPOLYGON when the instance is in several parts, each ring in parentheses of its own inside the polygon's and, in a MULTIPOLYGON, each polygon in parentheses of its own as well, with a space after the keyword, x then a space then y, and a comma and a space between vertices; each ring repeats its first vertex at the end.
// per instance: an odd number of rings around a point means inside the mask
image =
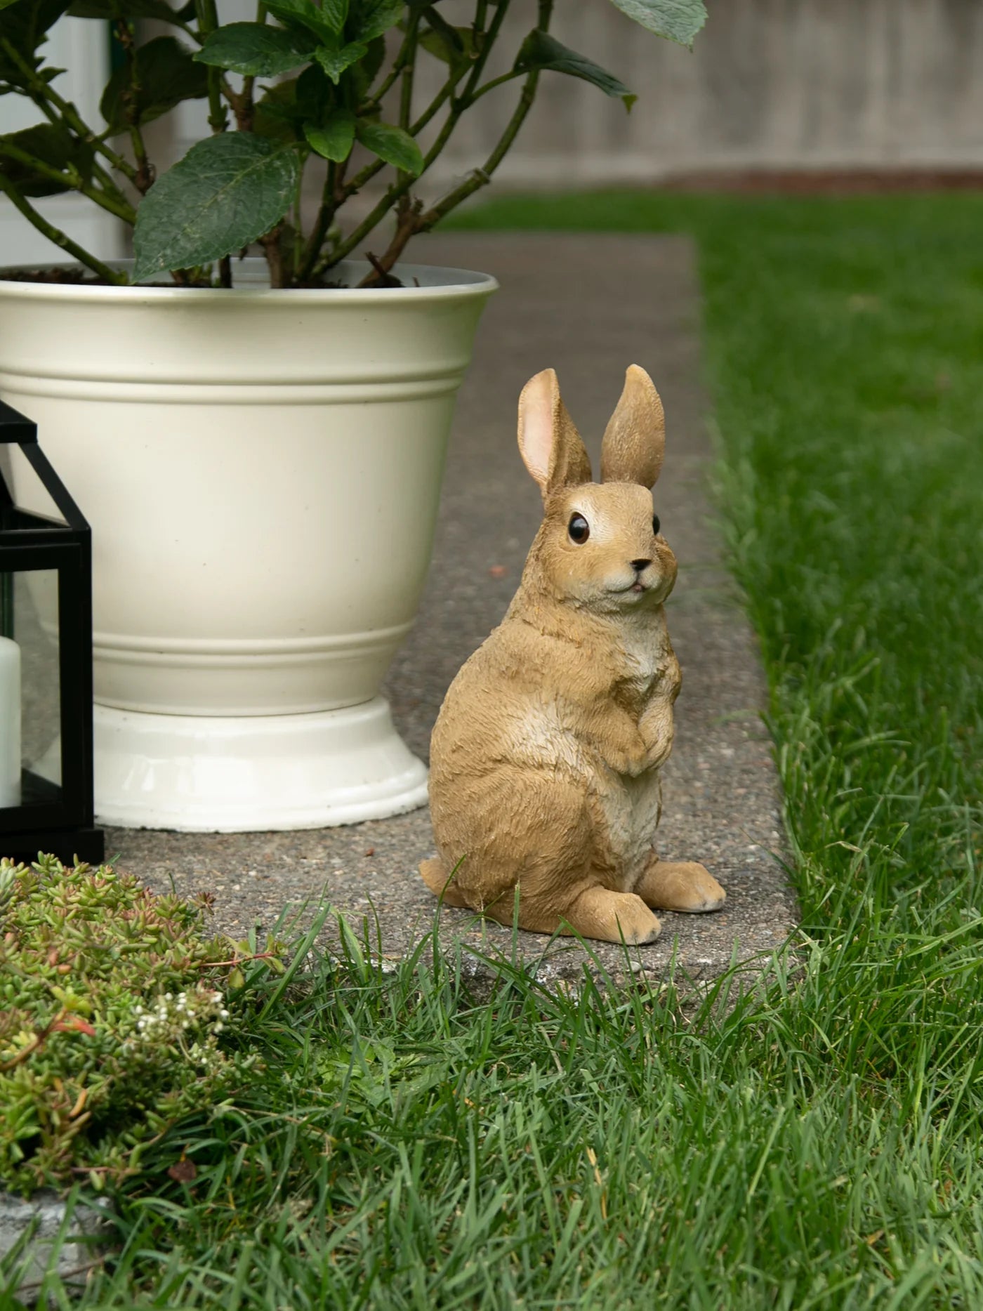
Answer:
MULTIPOLYGON (((704 20, 700 0, 613 3, 683 43, 704 20)), ((261 0, 254 22, 222 25, 215 0, 0 0, 0 94, 43 114, 0 136, 0 191, 73 261, 0 273, 0 396, 41 425, 93 526, 105 821, 292 829, 425 798, 379 686, 423 587, 453 396, 495 283, 402 254, 486 185, 544 72, 634 100, 550 35, 552 0, 498 76, 510 0, 474 0, 465 26, 442 8, 261 0), (45 66, 64 12, 113 25, 98 125, 45 66), (170 34, 142 41, 144 18, 170 34), (419 105, 425 59, 444 73, 419 105), (512 83, 489 157, 425 203, 418 180, 461 115, 512 83), (145 125, 187 98, 207 101, 211 134, 157 177, 145 125), (321 170, 307 227, 305 169, 321 170), (134 261, 42 218, 33 199, 58 190, 132 225, 134 261)))

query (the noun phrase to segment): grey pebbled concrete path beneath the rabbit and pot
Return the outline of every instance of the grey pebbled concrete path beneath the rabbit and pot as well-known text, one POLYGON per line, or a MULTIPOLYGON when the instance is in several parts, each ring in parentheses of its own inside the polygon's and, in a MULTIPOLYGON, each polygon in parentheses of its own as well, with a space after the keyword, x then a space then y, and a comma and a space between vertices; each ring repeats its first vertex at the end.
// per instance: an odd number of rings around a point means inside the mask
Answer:
MULTIPOLYGON (((495 274, 502 291, 478 332, 457 402, 434 565, 417 627, 385 687, 397 728, 426 758, 430 729, 459 666, 501 620, 540 517, 515 444, 526 380, 545 367, 595 464, 625 367, 642 364, 662 395, 666 464, 657 486, 663 532, 680 562, 667 604, 683 667, 676 739, 665 771, 661 855, 700 860, 727 889, 713 915, 662 914, 661 939, 630 950, 592 944, 615 978, 665 977, 674 958, 691 977, 720 974, 780 945, 796 903, 779 863, 780 796, 760 720, 765 684, 755 642, 708 523, 712 454, 700 385, 699 284, 693 248, 675 236, 461 235, 419 239, 414 258, 495 274)), ((398 551, 398 543, 393 543, 398 551)), ((157 890, 215 897, 215 928, 240 937, 254 923, 322 895, 357 929, 381 935, 396 960, 434 924, 435 901, 417 865, 434 853, 426 810, 343 829, 273 834, 110 830, 107 855, 157 890), (376 929, 377 918, 377 929, 376 929)), ((512 958, 512 932, 446 909, 440 933, 485 956, 512 958)), ((583 949, 518 933, 520 960, 540 975, 577 979, 583 949), (547 953, 544 957, 544 952, 547 953)), ((492 966, 474 957, 478 975, 492 966)))

